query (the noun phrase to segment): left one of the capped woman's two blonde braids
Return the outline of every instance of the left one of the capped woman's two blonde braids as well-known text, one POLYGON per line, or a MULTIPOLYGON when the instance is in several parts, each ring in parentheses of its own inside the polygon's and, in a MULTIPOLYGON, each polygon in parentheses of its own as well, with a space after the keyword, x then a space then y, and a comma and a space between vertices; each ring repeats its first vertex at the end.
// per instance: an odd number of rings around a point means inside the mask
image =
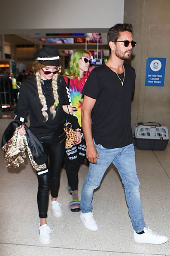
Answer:
MULTIPOLYGON (((39 97, 39 100, 40 100, 42 106, 45 108, 47 106, 46 97, 44 96, 43 91, 42 91, 39 71, 36 72, 35 75, 36 75, 36 85, 37 85, 37 89, 38 89, 38 97, 39 97)), ((45 122, 46 122, 49 119, 49 115, 47 114, 46 111, 42 111, 42 114, 43 114, 43 116, 45 118, 45 122)))

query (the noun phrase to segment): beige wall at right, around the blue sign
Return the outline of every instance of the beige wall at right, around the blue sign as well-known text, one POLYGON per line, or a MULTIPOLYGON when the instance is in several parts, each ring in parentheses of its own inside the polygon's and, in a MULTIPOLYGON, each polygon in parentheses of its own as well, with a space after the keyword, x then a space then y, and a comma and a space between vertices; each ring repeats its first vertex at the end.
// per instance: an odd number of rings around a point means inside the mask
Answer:
POLYGON ((134 28, 136 90, 132 128, 137 122, 160 122, 170 133, 170 0, 125 0, 124 22, 134 28), (145 86, 146 58, 166 59, 164 87, 145 86))

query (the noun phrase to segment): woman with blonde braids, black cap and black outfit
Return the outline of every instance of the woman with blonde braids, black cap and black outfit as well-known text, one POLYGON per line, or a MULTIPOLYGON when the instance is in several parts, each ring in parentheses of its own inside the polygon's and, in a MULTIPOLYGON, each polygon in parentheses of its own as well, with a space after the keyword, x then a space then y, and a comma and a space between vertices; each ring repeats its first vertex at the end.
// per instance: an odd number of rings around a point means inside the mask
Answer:
MULTIPOLYGON (((79 144, 81 134, 75 116, 63 111, 67 94, 58 75, 60 64, 59 51, 44 47, 34 53, 34 74, 26 78, 22 84, 15 109, 15 119, 27 122, 30 117, 30 130, 42 143, 48 156, 47 172, 39 172, 37 202, 39 209, 39 240, 42 244, 50 243, 50 228, 47 225, 47 209, 49 190, 51 190, 51 207, 56 217, 62 215, 61 204, 58 202, 60 170, 65 153, 65 119, 72 122, 76 130, 76 142, 79 144)), ((25 134, 24 126, 20 134, 25 134)))

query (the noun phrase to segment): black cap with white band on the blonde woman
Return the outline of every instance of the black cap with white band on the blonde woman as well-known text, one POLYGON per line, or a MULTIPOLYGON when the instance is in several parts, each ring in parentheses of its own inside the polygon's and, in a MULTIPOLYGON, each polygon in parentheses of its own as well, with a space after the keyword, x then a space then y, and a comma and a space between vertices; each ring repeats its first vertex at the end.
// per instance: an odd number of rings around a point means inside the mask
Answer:
POLYGON ((33 54, 33 58, 44 66, 59 66, 60 56, 56 48, 43 47, 33 54))

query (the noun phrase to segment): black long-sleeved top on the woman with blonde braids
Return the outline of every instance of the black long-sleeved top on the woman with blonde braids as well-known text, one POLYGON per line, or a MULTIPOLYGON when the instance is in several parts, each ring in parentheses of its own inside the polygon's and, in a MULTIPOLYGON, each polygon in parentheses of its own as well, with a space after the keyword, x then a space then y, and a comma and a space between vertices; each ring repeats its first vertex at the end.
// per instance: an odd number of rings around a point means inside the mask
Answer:
POLYGON ((51 82, 52 80, 44 80, 42 83, 43 94, 46 97, 46 103, 48 106, 47 113, 49 115, 49 119, 46 122, 44 121, 41 111, 43 106, 41 105, 38 97, 35 75, 28 76, 21 84, 19 98, 15 108, 15 119, 22 122, 27 122, 27 116, 29 114, 29 128, 33 134, 36 135, 36 137, 42 137, 51 131, 54 131, 59 126, 63 125, 66 119, 73 124, 73 128, 79 128, 77 118, 75 116, 68 115, 62 108, 62 105, 69 104, 64 86, 65 81, 62 77, 58 78, 59 105, 58 108, 56 108, 56 116, 54 119, 52 119, 49 108, 53 105, 55 100, 52 93, 51 82))

